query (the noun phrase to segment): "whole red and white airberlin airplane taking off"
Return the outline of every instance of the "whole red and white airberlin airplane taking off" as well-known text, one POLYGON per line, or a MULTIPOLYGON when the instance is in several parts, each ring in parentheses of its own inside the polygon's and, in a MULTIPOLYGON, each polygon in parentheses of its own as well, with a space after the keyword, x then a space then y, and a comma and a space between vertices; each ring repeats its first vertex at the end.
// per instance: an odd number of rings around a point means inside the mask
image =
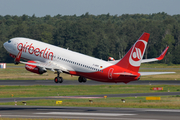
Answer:
POLYGON ((144 32, 126 55, 120 60, 105 61, 30 38, 16 37, 3 44, 14 58, 14 63, 25 64, 26 70, 43 74, 51 70, 57 74, 55 83, 62 83, 60 73, 79 76, 80 83, 87 78, 100 82, 128 83, 143 75, 169 74, 174 72, 138 72, 141 63, 162 60, 167 47, 157 58, 142 59, 150 34, 144 32), (24 59, 27 62, 20 61, 24 59))

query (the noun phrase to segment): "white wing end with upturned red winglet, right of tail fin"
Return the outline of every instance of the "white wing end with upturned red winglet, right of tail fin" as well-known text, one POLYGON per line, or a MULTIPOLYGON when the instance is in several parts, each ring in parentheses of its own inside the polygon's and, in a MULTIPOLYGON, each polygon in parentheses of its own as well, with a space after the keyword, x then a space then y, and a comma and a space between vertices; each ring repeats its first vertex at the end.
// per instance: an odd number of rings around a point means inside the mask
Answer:
POLYGON ((162 59, 164 58, 164 56, 165 56, 168 48, 169 48, 169 46, 166 47, 166 49, 161 53, 161 55, 160 55, 159 57, 157 57, 157 58, 151 58, 151 59, 143 59, 143 60, 141 61, 141 63, 146 63, 146 62, 153 62, 153 61, 162 60, 162 59))

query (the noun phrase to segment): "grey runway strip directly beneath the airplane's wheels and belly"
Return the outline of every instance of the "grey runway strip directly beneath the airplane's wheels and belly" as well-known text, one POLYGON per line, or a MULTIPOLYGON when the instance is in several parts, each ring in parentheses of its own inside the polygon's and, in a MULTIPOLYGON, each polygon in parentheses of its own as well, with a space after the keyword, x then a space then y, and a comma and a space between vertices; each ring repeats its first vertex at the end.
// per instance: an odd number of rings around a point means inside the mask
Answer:
MULTIPOLYGON (((64 80, 55 83, 54 80, 0 80, 0 85, 125 85, 125 83, 104 83, 88 80, 79 83, 78 80, 64 80)), ((180 85, 180 80, 139 80, 129 82, 128 85, 180 85)))

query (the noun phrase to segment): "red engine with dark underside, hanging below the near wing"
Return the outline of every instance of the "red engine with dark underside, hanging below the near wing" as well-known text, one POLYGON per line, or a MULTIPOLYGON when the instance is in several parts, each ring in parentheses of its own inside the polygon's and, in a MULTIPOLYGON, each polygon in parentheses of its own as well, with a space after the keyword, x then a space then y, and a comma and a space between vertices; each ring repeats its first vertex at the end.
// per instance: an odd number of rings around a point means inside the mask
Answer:
MULTIPOLYGON (((29 63, 35 63, 34 61, 28 61, 29 63)), ((44 70, 41 67, 38 67, 36 65, 30 65, 30 64, 26 64, 25 65, 26 70, 36 73, 36 74, 43 74, 45 72, 47 72, 46 70, 44 70)))

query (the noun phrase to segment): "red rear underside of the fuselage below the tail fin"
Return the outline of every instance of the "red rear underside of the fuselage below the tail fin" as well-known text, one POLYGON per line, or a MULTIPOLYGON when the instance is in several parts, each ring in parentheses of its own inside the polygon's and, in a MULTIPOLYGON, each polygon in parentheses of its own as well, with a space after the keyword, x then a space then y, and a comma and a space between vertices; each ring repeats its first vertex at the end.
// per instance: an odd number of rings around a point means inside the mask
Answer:
POLYGON ((138 80, 138 78, 140 77, 139 73, 129 71, 127 69, 123 69, 117 65, 107 67, 101 71, 90 72, 90 73, 70 71, 70 74, 83 76, 83 77, 86 77, 88 79, 95 80, 95 81, 113 82, 113 83, 117 83, 117 82, 127 83, 130 81, 138 80), (114 73, 131 73, 136 76, 120 75, 120 74, 114 74, 114 73))

